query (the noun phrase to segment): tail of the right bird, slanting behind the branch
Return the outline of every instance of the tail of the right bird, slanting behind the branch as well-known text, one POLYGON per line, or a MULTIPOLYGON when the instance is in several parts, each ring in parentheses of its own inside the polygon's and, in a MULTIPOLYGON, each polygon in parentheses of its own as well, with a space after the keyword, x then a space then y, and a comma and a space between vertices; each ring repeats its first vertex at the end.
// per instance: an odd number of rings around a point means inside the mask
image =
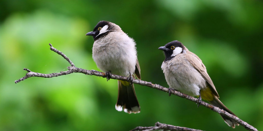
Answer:
MULTIPOLYGON (((212 105, 219 107, 220 109, 227 111, 228 113, 236 116, 233 112, 231 112, 216 96, 214 96, 214 99, 212 101, 209 101, 212 105)), ((221 115, 221 114, 220 114, 221 115)), ((235 125, 239 125, 237 122, 233 121, 232 119, 229 119, 225 116, 221 117, 224 119, 227 125, 231 126, 232 128, 235 128, 235 125)))

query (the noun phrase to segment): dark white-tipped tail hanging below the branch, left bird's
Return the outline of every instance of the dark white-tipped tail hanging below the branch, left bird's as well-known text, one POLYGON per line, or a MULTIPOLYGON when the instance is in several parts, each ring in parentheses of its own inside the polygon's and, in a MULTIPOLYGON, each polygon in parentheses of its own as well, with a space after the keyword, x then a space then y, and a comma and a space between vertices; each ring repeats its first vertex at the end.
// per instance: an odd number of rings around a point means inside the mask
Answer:
POLYGON ((134 85, 127 81, 118 80, 118 100, 115 105, 117 111, 139 113, 140 105, 137 100, 134 85))

